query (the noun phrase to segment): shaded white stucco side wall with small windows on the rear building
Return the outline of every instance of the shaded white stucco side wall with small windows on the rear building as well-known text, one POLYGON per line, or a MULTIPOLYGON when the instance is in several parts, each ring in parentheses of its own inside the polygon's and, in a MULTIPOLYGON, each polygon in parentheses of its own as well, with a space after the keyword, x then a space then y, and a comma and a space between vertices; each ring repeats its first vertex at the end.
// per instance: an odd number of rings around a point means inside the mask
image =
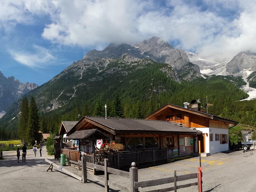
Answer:
POLYGON ((228 135, 228 129, 219 129, 219 128, 211 128, 211 127, 209 129, 211 129, 211 132, 209 132, 209 133, 212 133, 212 141, 208 141, 208 142, 210 142, 210 145, 209 145, 210 153, 214 154, 214 153, 219 153, 221 151, 227 151, 228 143, 220 144, 220 141, 215 141, 215 133, 228 135))

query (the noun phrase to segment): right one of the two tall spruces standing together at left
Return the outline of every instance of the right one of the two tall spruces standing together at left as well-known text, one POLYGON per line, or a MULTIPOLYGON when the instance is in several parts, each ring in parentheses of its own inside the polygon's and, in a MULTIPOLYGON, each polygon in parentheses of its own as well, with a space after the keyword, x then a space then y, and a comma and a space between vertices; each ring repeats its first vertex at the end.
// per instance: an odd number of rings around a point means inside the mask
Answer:
POLYGON ((39 142, 39 115, 36 101, 33 96, 30 97, 28 107, 28 127, 27 127, 27 143, 34 144, 35 140, 39 142))

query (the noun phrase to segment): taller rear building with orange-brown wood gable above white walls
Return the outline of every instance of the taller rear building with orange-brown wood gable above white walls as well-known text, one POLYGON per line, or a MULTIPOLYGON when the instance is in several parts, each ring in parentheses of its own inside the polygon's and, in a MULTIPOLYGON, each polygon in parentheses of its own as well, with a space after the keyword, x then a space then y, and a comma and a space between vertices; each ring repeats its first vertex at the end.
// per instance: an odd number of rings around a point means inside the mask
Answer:
MULTIPOLYGON (((191 101, 190 104, 185 102, 184 107, 166 104, 145 119, 171 121, 201 131, 202 134, 195 138, 195 152, 198 152, 198 140, 200 140, 203 156, 228 150, 229 125, 238 124, 230 119, 201 112, 200 101, 196 100, 191 101)), ((170 138, 171 140, 173 139, 170 138)))

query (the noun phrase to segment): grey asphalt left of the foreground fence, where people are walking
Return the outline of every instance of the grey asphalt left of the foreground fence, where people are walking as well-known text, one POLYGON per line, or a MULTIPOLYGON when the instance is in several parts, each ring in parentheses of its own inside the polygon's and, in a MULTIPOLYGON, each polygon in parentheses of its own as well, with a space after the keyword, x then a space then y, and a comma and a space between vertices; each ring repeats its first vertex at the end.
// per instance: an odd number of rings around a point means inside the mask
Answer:
POLYGON ((46 154, 46 147, 42 150, 42 157, 39 150, 37 154, 39 156, 34 157, 33 150, 29 149, 26 163, 17 163, 16 151, 3 151, 4 160, 0 160, 0 192, 104 191, 100 185, 92 182, 84 184, 55 167, 52 172, 46 172, 49 164, 44 159, 54 159, 54 156, 46 154))

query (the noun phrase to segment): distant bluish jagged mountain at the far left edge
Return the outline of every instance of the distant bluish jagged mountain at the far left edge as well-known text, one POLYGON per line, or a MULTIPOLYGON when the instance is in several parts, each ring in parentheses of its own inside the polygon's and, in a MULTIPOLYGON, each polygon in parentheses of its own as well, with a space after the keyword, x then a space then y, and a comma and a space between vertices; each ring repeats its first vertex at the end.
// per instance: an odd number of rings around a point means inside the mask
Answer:
MULTIPOLYGON (((8 107, 19 100, 24 94, 35 89, 38 85, 35 83, 21 83, 15 80, 13 76, 5 77, 0 71, 0 112, 7 111, 8 107)), ((4 114, 4 112, 1 112, 4 114)))

